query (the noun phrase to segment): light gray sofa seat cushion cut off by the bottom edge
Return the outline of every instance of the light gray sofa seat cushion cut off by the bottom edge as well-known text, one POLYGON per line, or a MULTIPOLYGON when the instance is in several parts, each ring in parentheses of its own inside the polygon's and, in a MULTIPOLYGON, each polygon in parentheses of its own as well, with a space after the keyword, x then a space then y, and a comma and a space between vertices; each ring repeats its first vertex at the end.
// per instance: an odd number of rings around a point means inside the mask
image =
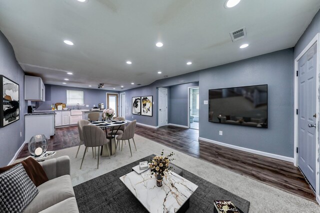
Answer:
POLYGON ((60 203, 57 203, 40 213, 78 213, 78 205, 75 198, 68 198, 60 203))

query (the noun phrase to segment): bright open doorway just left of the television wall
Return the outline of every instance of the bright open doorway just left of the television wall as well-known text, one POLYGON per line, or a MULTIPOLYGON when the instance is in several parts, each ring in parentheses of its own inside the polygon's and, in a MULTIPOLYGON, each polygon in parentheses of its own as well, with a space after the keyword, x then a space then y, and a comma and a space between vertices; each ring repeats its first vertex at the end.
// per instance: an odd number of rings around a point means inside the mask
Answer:
POLYGON ((188 87, 188 127, 199 130, 199 87, 188 87))

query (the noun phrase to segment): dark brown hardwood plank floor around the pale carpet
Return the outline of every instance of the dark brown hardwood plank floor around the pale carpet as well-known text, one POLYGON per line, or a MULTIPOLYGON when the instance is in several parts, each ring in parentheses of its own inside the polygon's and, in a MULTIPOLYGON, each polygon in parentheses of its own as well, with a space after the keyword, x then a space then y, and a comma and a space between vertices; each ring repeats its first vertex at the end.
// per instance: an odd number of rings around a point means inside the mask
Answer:
MULTIPOLYGON (((135 133, 187 155, 208 161, 240 175, 315 202, 315 195, 292 163, 198 141, 198 130, 165 126, 158 129, 136 126, 135 133)), ((59 128, 48 141, 48 150, 77 146, 77 127, 59 128)), ((28 156, 27 145, 17 158, 28 156)))

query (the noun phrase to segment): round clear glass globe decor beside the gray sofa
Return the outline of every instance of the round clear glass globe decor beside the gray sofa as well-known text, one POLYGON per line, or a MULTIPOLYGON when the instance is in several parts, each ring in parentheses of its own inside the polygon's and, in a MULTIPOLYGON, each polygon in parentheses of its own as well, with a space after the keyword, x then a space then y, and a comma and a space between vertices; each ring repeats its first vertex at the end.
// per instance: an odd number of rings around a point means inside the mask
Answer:
POLYGON ((34 157, 39 157, 48 148, 48 140, 44 135, 33 136, 28 144, 28 150, 34 157))

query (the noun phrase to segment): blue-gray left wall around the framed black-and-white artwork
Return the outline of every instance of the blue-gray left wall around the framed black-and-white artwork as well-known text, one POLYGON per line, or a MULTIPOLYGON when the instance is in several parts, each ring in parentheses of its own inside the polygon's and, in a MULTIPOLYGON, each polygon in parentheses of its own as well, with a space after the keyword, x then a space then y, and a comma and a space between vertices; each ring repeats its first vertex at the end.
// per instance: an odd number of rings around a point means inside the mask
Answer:
MULTIPOLYGON (((0 128, 0 167, 6 166, 24 142, 24 71, 15 59, 14 51, 0 31, 0 74, 19 84, 20 120, 0 128), (22 136, 20 137, 20 132, 22 136)), ((2 94, 1 94, 2 95, 2 94)))

